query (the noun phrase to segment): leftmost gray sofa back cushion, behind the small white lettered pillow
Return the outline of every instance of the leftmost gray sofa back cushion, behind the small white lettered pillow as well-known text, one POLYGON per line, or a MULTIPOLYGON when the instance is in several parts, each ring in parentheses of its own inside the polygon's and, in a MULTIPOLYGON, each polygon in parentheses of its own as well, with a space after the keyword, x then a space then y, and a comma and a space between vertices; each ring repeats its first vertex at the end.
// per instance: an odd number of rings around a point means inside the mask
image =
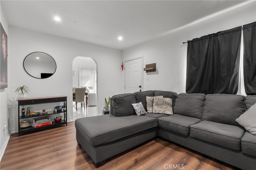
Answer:
POLYGON ((135 96, 131 93, 112 96, 114 116, 126 116, 136 114, 132 104, 136 103, 135 96))

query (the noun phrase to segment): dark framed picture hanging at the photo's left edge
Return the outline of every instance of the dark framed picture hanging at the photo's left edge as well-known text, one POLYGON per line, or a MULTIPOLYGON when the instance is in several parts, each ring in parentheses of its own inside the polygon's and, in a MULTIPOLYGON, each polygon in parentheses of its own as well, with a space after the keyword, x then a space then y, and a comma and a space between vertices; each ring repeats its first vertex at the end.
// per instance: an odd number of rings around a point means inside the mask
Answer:
POLYGON ((0 27, 0 88, 7 88, 7 34, 4 31, 2 23, 0 23, 0 27))

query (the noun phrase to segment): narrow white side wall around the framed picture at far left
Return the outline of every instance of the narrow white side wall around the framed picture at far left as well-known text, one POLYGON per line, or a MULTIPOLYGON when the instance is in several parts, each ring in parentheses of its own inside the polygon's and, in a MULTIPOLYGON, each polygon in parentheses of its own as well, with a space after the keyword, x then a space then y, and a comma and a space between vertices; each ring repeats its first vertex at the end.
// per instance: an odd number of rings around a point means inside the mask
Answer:
MULTIPOLYGON (((2 23, 2 26, 4 27, 4 31, 7 34, 7 43, 8 43, 7 48, 8 48, 8 46, 9 46, 9 26, 8 26, 8 22, 6 20, 4 11, 2 10, 1 4, 0 4, 0 16, 1 16, 0 21, 2 23)), ((9 51, 9 48, 7 50, 9 51)), ((9 59, 7 62, 9 62, 9 59)), ((8 89, 9 88, 10 88, 10 85, 8 84, 8 88, 0 89, 0 106, 1 106, 0 107, 0 160, 2 159, 5 147, 7 145, 8 139, 9 139, 9 127, 8 127, 8 117, 9 117, 8 89), (7 127, 8 127, 7 130, 4 130, 4 125, 7 125, 7 127)))

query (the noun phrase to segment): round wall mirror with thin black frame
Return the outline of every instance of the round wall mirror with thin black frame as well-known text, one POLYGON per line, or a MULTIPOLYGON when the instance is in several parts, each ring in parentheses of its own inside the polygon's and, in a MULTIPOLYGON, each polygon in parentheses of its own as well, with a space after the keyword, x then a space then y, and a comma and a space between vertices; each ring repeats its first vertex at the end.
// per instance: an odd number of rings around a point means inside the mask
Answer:
POLYGON ((27 55, 23 61, 23 67, 34 78, 48 78, 56 71, 56 63, 52 56, 43 52, 27 55))

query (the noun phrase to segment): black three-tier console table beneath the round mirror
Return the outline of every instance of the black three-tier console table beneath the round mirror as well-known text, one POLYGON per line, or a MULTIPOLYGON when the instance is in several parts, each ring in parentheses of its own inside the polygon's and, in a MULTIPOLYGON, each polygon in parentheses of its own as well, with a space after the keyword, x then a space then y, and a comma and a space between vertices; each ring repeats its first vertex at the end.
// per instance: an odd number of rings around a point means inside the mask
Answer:
MULTIPOLYGON (((60 106, 60 104, 56 104, 56 106, 60 106)), ((26 108, 26 107, 24 107, 24 108, 26 108)), ((42 108, 42 109, 45 109, 45 108, 42 108)), ((48 109, 53 109, 53 108, 48 108, 48 109)), ((50 129, 50 128, 64 125, 64 124, 66 124, 66 126, 67 126, 68 122, 67 122, 67 111, 66 110, 67 110, 67 96, 52 96, 52 97, 43 97, 43 98, 18 99, 18 136, 20 136, 21 133, 28 133, 28 132, 32 132, 32 131, 50 129), (40 105, 40 104, 60 103, 60 102, 63 102, 62 106, 64 106, 64 110, 61 112, 49 111, 46 114, 40 113, 37 115, 25 115, 25 116, 22 116, 22 113, 21 113, 22 106, 29 107, 31 105, 36 105, 36 104, 40 105), (24 128, 20 127, 20 122, 24 119, 32 119, 32 118, 36 118, 36 117, 39 118, 39 117, 43 117, 43 116, 47 116, 47 115, 49 115, 49 116, 52 115, 52 117, 54 117, 56 114, 63 115, 62 121, 55 122, 53 119, 51 125, 46 125, 46 126, 37 127, 37 128, 34 128, 31 125, 29 127, 24 127, 24 128)), ((26 113, 26 110, 25 110, 25 113, 26 113)), ((32 124, 32 122, 30 122, 30 124, 32 124)))

